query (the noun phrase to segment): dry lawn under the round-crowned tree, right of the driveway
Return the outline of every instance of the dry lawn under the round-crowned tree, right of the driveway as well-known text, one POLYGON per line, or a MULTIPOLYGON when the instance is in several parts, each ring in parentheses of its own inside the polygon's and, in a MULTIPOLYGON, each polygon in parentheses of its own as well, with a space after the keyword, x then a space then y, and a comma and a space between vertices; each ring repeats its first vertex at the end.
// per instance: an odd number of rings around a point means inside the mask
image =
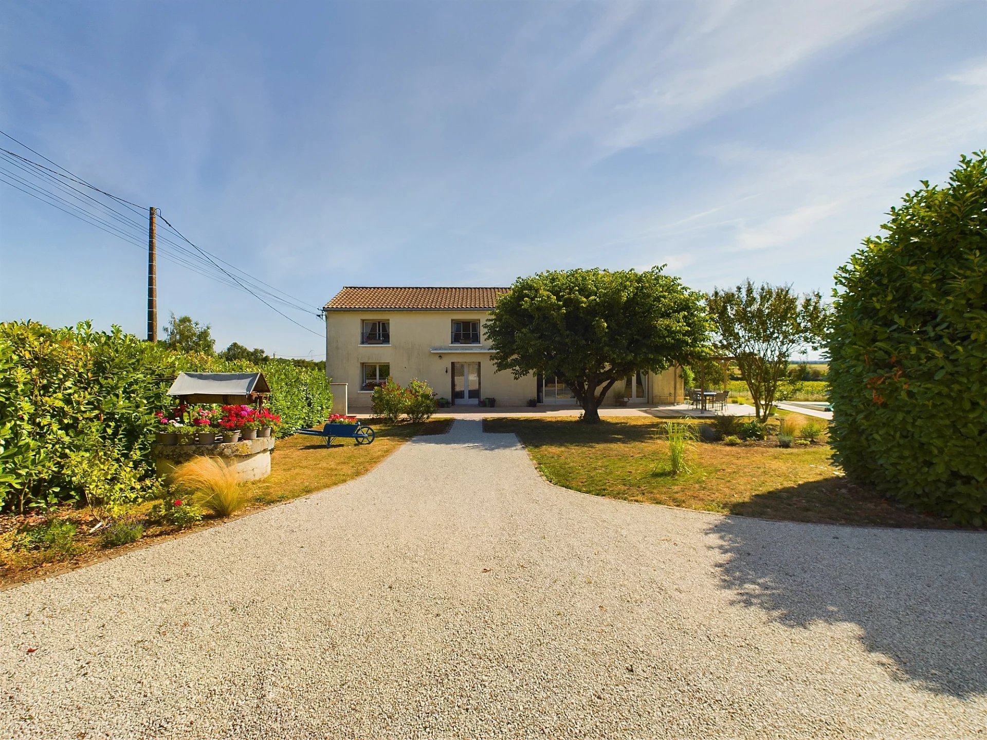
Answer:
POLYGON ((951 527, 847 481, 825 443, 782 449, 695 442, 686 457, 690 472, 671 476, 657 419, 496 418, 484 428, 514 432, 546 479, 593 495, 797 522, 951 527))

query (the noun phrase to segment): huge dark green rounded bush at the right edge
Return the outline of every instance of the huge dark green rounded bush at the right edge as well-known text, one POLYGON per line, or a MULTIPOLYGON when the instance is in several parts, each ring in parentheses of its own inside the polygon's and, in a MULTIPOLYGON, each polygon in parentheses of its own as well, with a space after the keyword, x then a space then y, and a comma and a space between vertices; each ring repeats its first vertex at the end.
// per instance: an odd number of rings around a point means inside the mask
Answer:
POLYGON ((987 524, 987 153, 891 208, 836 274, 831 443, 847 473, 987 524))

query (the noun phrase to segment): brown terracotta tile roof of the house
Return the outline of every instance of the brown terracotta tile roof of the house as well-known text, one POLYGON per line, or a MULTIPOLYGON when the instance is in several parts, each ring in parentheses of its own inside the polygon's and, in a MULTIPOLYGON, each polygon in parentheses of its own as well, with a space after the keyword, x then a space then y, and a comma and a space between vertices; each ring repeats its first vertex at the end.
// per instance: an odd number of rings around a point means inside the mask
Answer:
POLYGON ((327 311, 489 311, 510 288, 344 287, 327 311))

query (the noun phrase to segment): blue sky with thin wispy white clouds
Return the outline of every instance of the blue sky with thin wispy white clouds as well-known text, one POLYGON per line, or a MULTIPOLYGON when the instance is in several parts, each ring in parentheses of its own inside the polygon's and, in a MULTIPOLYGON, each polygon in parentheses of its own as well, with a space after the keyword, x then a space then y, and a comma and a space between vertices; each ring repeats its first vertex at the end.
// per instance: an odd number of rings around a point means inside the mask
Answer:
MULTIPOLYGON (((987 3, 8 0, 0 130, 315 308, 662 263, 828 295, 903 193, 987 146, 987 3)), ((0 183, 0 321, 144 335, 137 226, 0 183)), ((160 323, 325 355, 315 308, 158 273, 160 323)))

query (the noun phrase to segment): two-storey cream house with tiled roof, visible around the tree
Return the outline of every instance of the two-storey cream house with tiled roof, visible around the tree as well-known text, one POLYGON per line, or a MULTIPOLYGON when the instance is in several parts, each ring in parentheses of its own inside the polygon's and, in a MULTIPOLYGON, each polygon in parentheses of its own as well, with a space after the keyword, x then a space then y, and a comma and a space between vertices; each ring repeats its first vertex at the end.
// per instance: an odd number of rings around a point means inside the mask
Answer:
MULTIPOLYGON (((325 306, 326 374, 347 384, 351 410, 369 409, 373 389, 391 376, 406 385, 428 383, 455 406, 493 398, 497 406, 575 405, 569 388, 554 377, 515 379, 497 372, 484 322, 509 288, 344 287, 325 306)), ((632 405, 682 400, 677 368, 649 376, 637 372, 618 383, 607 403, 623 393, 632 405)))

